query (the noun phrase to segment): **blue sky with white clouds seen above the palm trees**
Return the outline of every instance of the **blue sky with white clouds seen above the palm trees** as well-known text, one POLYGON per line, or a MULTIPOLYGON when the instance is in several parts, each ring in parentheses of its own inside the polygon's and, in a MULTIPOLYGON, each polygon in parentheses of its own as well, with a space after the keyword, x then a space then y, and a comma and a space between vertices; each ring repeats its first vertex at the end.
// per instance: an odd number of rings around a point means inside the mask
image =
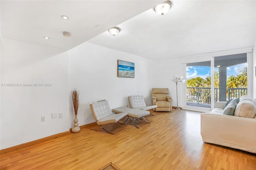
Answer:
MULTIPOLYGON (((231 67, 227 67, 227 77, 230 75, 238 75, 241 74, 241 71, 244 69, 244 67, 247 67, 247 63, 234 65, 231 67)), ((214 70, 218 70, 217 67, 214 68, 214 70)), ((201 77, 203 79, 206 79, 206 77, 209 77, 211 75, 211 67, 206 66, 190 66, 187 67, 187 76, 186 79, 192 79, 196 77, 201 77)))

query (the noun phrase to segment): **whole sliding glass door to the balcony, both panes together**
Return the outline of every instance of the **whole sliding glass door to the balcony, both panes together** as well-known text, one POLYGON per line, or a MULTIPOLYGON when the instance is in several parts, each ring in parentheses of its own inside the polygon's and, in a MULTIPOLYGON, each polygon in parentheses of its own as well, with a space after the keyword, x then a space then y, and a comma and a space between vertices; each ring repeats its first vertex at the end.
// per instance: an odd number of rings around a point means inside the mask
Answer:
POLYGON ((228 101, 247 95, 247 77, 247 53, 186 63, 184 107, 210 110, 216 101, 228 101))

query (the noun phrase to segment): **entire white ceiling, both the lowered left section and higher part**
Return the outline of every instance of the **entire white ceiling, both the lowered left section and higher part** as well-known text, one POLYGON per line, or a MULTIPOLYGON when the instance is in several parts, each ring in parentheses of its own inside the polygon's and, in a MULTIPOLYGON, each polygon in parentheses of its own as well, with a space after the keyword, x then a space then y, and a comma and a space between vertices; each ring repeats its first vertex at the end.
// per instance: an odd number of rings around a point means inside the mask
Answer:
POLYGON ((155 60, 254 45, 255 0, 172 0, 160 16, 153 7, 163 1, 1 0, 1 36, 62 49, 88 41, 155 60), (117 36, 107 31, 113 26, 121 29, 117 36))

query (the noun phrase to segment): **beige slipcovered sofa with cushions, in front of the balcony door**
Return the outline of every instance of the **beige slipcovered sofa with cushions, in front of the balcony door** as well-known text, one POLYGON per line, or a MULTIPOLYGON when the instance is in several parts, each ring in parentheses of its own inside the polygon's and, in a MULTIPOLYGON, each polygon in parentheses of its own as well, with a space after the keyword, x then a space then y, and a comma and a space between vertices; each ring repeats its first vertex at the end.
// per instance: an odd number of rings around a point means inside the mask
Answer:
POLYGON ((215 109, 201 114, 203 141, 256 153, 256 99, 242 96, 234 115, 223 114, 225 104, 216 102, 215 109))

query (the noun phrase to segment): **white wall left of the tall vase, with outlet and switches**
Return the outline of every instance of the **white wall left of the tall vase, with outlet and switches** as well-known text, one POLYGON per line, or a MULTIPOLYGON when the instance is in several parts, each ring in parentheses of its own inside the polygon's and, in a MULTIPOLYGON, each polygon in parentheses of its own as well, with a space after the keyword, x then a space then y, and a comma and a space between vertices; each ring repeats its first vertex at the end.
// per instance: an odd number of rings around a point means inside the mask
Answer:
POLYGON ((0 149, 68 131, 67 91, 68 52, 2 38, 0 149), (23 83, 51 86, 21 87, 23 83), (63 118, 51 119, 52 112, 62 112, 63 118))

